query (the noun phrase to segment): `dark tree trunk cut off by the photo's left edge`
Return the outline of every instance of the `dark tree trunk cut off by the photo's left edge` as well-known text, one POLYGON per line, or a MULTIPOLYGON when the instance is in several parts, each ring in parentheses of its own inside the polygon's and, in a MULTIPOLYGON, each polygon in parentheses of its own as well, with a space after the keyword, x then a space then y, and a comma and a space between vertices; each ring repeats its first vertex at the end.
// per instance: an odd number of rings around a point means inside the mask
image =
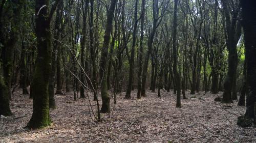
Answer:
POLYGON ((9 107, 11 78, 23 5, 24 1, 2 1, 0 4, 0 115, 4 116, 12 114, 9 107))

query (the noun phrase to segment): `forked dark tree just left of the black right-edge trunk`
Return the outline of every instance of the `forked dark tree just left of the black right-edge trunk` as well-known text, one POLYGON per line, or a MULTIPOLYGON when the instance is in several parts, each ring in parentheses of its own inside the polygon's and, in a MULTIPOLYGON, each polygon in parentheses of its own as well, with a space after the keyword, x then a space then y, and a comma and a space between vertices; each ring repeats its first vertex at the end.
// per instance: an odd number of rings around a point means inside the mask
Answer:
POLYGON ((223 16, 225 16, 225 39, 228 50, 228 72, 224 81, 224 103, 232 103, 232 99, 237 99, 237 43, 241 36, 241 23, 238 20, 240 14, 240 5, 238 1, 222 0, 223 16), (233 4, 233 7, 230 8, 233 4))

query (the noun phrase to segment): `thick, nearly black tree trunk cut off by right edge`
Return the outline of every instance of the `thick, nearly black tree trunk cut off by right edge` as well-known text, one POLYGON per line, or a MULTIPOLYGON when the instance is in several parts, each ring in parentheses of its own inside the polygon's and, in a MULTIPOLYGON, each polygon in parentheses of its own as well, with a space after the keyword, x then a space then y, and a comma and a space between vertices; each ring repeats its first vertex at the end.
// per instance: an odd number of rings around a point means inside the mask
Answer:
POLYGON ((256 3, 240 1, 245 36, 246 75, 248 95, 246 98, 245 118, 256 119, 256 3))

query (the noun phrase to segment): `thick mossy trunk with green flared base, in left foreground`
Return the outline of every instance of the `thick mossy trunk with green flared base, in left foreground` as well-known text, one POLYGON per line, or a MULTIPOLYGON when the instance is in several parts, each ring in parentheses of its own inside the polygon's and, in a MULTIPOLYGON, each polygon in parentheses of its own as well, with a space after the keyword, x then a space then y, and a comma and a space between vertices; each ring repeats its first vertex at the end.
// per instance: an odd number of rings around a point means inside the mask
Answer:
POLYGON ((33 94, 33 113, 28 125, 26 126, 29 129, 44 128, 52 123, 49 115, 48 95, 49 77, 52 68, 50 21, 57 4, 58 0, 55 1, 51 11, 49 12, 49 0, 36 0, 35 2, 37 59, 31 84, 33 94))

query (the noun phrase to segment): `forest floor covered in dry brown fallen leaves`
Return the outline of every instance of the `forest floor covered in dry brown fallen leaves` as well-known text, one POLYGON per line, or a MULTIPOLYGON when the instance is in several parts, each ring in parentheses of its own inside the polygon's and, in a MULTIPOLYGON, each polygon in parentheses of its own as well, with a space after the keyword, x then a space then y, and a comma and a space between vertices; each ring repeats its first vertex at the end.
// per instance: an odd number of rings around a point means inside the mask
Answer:
MULTIPOLYGON (((55 96, 56 109, 50 109, 53 125, 46 129, 24 129, 32 115, 32 100, 28 95, 13 94, 10 103, 14 116, 0 119, 0 142, 256 142, 256 128, 241 128, 237 118, 245 107, 220 104, 212 95, 186 95, 182 107, 176 108, 173 92, 147 91, 147 97, 124 99, 117 95, 111 114, 101 114, 95 122, 88 99, 73 100, 73 94, 55 96), (93 120, 92 120, 93 119, 93 120)), ((91 94, 90 94, 90 97, 91 94)), ((91 101, 96 109, 96 102, 91 101)), ((100 101, 101 104, 101 101, 100 101)))

